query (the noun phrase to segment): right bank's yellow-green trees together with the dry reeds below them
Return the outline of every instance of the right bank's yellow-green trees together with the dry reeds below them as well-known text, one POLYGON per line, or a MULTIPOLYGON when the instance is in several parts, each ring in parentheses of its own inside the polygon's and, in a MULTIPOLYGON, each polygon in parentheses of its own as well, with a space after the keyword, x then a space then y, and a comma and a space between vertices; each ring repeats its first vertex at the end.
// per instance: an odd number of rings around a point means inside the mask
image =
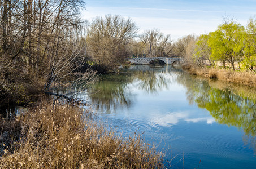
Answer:
POLYGON ((215 32, 180 39, 183 69, 193 75, 255 87, 255 39, 256 17, 250 18, 245 28, 224 16, 215 32))

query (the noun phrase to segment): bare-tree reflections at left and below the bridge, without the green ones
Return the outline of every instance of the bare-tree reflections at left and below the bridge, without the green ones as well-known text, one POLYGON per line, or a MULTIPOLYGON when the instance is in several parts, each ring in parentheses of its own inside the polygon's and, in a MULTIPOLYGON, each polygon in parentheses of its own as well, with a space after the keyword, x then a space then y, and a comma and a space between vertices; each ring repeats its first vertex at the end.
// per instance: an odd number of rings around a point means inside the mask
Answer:
MULTIPOLYGON (((157 94, 158 91, 168 88, 171 73, 163 68, 163 65, 154 68, 149 65, 135 65, 120 70, 118 75, 105 75, 89 89, 90 101, 97 111, 114 113, 118 108, 129 109, 136 101, 136 95, 130 91, 131 85, 148 94, 157 94)), ((173 67, 170 66, 170 69, 173 67)))

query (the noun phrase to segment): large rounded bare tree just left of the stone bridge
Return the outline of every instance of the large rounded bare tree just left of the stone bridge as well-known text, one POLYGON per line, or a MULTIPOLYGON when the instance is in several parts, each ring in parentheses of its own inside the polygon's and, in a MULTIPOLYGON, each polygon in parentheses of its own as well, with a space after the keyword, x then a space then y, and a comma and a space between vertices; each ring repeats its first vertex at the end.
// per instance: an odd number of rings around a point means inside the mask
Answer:
POLYGON ((87 50, 98 66, 98 71, 104 73, 115 63, 120 63, 127 57, 125 46, 131 41, 138 28, 131 19, 124 19, 111 14, 96 17, 90 24, 86 37, 87 50))

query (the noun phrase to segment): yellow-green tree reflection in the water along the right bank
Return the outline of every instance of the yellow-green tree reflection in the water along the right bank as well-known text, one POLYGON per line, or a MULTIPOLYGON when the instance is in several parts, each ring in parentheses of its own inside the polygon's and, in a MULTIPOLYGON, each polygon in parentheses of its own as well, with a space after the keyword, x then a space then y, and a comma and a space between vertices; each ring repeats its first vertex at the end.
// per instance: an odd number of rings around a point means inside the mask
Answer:
POLYGON ((186 73, 181 73, 177 81, 186 87, 189 103, 196 103, 200 108, 207 109, 220 124, 242 128, 245 133, 244 141, 256 148, 255 88, 206 81, 186 73))

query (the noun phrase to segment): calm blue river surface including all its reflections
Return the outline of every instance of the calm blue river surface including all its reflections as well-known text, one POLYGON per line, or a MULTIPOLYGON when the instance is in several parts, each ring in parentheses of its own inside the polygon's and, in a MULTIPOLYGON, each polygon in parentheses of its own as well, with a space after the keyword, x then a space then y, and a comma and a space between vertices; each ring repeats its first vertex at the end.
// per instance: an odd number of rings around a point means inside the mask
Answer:
POLYGON ((102 77, 87 99, 106 125, 158 145, 167 167, 256 168, 255 91, 141 65, 102 77))

